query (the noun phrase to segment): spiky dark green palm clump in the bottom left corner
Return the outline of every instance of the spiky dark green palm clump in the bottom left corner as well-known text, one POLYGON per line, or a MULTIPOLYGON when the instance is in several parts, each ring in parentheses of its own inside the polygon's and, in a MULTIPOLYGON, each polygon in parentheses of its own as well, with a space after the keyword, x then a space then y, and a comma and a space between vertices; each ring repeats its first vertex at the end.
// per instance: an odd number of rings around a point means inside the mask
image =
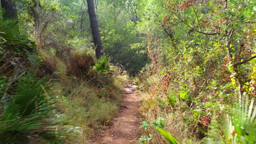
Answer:
POLYGON ((46 96, 50 88, 47 79, 24 73, 8 77, 2 74, 0 78, 1 87, 4 87, 0 92, 1 143, 61 142, 64 137, 56 129, 61 129, 63 122, 53 113, 55 98, 46 96))

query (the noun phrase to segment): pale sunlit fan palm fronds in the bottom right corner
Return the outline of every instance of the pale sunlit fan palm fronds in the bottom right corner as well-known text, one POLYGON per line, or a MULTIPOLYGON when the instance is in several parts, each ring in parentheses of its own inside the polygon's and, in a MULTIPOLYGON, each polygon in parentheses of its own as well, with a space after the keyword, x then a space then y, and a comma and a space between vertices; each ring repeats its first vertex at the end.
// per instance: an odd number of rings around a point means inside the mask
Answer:
POLYGON ((224 127, 226 143, 255 143, 255 115, 256 109, 254 98, 250 100, 248 96, 237 100, 234 106, 234 113, 228 116, 224 127))

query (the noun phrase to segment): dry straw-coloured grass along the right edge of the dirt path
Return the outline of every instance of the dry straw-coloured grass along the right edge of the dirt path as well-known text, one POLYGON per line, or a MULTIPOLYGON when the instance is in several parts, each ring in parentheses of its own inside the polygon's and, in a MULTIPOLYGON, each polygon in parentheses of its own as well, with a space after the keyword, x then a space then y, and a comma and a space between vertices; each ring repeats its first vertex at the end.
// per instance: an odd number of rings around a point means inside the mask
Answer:
MULTIPOLYGON (((175 109, 170 105, 162 103, 159 99, 165 99, 166 95, 164 93, 159 94, 158 96, 148 93, 148 90, 153 88, 150 87, 150 82, 156 81, 156 76, 150 76, 146 82, 146 85, 140 85, 141 97, 142 97, 142 107, 141 115, 143 119, 147 120, 150 125, 158 119, 159 117, 164 118, 165 130, 167 130, 175 139, 180 143, 200 143, 196 140, 194 135, 197 134, 197 130, 194 130, 195 133, 191 134, 191 131, 195 128, 194 122, 190 122, 189 119, 193 119, 193 113, 183 110, 183 107, 186 107, 186 103, 181 101, 181 104, 175 109), (144 91, 146 90, 146 91, 144 91)), ((148 127, 144 129, 144 135, 149 137, 149 134, 153 134, 153 139, 148 141, 148 143, 168 143, 165 138, 154 128, 148 127)))

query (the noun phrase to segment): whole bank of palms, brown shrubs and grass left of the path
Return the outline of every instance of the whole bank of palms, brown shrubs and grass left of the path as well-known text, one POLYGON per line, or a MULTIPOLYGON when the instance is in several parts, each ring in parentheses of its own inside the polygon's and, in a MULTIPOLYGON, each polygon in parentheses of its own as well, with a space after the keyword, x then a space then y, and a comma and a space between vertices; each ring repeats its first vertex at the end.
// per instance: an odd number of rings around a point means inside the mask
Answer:
POLYGON ((0 143, 90 143, 118 112, 128 77, 90 46, 65 57, 38 50, 13 23, 0 23, 0 143))

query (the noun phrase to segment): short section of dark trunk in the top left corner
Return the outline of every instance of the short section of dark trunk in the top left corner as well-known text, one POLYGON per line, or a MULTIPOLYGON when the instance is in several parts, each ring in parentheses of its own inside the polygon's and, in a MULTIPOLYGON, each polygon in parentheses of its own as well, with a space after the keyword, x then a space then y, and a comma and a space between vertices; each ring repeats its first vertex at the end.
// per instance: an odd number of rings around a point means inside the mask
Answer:
POLYGON ((4 20, 17 20, 18 14, 15 2, 12 0, 1 0, 1 7, 3 11, 4 20))

